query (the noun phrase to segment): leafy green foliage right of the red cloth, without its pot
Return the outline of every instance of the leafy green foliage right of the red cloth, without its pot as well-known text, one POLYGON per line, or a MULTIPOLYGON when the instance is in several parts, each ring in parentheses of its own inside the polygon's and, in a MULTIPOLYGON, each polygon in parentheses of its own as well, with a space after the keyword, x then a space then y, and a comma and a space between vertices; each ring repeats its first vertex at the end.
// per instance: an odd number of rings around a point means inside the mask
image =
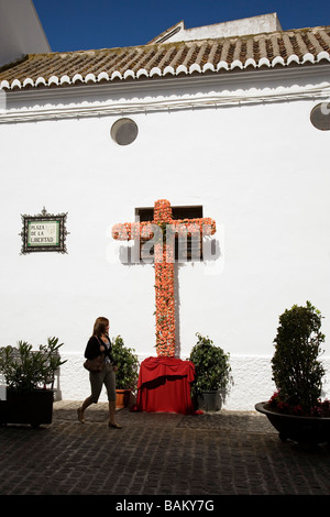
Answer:
POLYGON ((196 333, 198 341, 193 348, 189 361, 195 365, 195 381, 191 384, 191 395, 198 396, 204 392, 220 391, 224 398, 232 383, 229 353, 213 344, 208 337, 196 333))

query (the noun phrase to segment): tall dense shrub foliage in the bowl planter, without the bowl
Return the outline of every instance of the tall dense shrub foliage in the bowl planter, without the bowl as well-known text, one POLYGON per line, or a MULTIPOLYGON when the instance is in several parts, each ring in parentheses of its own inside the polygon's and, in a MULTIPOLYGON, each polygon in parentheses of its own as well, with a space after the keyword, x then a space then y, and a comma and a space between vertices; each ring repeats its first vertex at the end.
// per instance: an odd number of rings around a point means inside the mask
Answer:
POLYGON ((324 370, 319 361, 324 334, 321 314, 310 301, 294 305, 279 317, 272 359, 277 392, 271 404, 280 410, 310 413, 319 405, 324 370))

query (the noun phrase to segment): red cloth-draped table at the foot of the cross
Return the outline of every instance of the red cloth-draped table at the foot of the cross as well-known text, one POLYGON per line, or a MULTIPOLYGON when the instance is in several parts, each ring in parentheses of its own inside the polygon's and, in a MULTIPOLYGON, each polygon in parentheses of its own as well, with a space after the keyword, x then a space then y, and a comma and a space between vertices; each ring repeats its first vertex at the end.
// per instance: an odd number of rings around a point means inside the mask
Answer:
POLYGON ((176 358, 147 358, 140 366, 136 410, 194 414, 190 383, 195 366, 176 358))

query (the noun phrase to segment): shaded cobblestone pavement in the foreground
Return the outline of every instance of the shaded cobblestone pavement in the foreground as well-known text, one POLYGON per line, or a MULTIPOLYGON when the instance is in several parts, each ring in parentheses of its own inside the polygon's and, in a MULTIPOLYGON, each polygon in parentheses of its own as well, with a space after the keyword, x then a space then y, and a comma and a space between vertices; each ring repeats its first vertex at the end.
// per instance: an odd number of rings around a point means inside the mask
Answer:
POLYGON ((330 447, 282 442, 264 415, 185 416, 108 405, 77 421, 76 402, 53 424, 0 428, 0 495, 329 495, 330 447))

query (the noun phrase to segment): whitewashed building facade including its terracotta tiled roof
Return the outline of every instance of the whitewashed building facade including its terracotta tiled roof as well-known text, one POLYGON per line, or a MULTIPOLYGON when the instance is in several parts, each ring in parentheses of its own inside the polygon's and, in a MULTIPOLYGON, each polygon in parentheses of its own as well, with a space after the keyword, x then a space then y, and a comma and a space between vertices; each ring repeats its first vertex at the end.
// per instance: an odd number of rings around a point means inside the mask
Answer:
POLYGON ((324 316, 328 370, 330 28, 283 31, 272 14, 36 52, 0 69, 1 345, 58 337, 65 399, 88 395, 98 316, 155 355, 154 267, 111 229, 167 199, 217 223, 210 260, 176 265, 176 326, 182 359, 196 332, 230 353, 224 407, 273 394, 278 316, 294 304, 324 316), (59 251, 24 241, 45 213, 64 217, 59 251))

